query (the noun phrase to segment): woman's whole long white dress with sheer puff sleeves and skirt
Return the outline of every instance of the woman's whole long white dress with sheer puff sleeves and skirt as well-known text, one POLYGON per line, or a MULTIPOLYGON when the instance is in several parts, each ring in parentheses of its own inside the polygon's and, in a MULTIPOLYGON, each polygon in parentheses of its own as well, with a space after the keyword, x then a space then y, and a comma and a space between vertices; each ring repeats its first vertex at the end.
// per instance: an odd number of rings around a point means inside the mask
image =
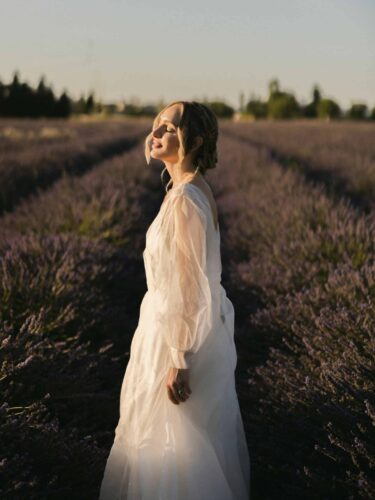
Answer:
POLYGON ((149 226, 140 306, 99 500, 248 500, 250 456, 235 388, 234 308, 204 192, 172 188, 149 226), (192 393, 169 399, 170 366, 192 393))

